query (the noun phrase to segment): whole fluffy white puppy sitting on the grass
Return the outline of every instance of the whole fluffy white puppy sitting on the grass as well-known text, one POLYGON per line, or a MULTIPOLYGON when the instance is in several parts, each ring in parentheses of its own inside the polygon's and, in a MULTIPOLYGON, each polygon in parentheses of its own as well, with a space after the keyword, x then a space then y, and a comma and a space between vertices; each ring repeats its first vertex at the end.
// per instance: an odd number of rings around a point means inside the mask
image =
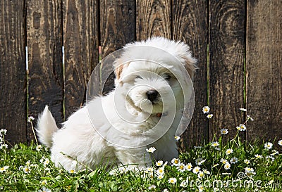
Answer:
POLYGON ((61 129, 46 106, 37 122, 39 141, 51 148, 55 165, 68 170, 145 167, 178 158, 175 134, 191 96, 187 76, 192 78, 195 63, 179 41, 153 37, 127 44, 114 61, 114 91, 88 101, 61 129), (157 150, 149 154, 152 146, 157 150))

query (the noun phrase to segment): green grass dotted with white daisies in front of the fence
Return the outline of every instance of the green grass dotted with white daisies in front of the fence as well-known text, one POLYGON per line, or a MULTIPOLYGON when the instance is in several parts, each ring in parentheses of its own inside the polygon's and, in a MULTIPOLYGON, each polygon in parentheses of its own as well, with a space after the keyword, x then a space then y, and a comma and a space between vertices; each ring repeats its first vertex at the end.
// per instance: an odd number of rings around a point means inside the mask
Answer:
POLYGON ((218 141, 190 148, 171 165, 67 172, 54 167, 43 146, 6 146, 1 129, 0 191, 281 191, 282 155, 274 146, 281 151, 282 141, 247 143, 241 131, 233 139, 224 139, 225 132, 218 141))

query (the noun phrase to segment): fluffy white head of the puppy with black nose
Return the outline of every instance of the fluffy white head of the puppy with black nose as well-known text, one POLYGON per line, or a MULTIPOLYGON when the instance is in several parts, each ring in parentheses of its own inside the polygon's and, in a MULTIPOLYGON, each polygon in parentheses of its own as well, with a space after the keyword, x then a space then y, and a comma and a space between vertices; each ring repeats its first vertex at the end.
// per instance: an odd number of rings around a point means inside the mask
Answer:
POLYGON ((189 47, 163 37, 127 44, 114 63, 116 89, 135 110, 157 115, 183 108, 183 85, 191 86, 195 58, 189 47), (190 79, 189 78, 189 79, 190 79))

